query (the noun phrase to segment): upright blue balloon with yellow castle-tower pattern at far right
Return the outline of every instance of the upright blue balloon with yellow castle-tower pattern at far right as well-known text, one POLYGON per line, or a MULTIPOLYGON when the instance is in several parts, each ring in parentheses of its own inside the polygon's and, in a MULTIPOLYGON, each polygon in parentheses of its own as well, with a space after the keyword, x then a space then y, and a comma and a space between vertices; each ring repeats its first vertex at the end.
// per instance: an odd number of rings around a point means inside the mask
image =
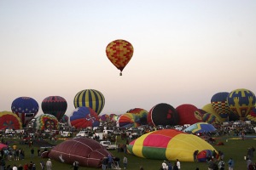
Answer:
POLYGON ((230 110, 244 120, 255 105, 255 94, 250 90, 240 88, 230 92, 227 101, 230 110))

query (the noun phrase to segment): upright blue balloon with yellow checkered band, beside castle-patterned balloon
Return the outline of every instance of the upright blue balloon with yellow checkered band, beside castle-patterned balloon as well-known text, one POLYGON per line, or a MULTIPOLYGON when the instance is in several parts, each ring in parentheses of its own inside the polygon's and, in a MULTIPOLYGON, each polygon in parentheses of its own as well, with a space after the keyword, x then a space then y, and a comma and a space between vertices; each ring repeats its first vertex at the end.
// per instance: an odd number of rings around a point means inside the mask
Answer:
POLYGON ((228 92, 219 92, 214 94, 211 99, 211 104, 214 109, 218 113, 219 116, 226 119, 230 115, 230 106, 228 105, 228 92))

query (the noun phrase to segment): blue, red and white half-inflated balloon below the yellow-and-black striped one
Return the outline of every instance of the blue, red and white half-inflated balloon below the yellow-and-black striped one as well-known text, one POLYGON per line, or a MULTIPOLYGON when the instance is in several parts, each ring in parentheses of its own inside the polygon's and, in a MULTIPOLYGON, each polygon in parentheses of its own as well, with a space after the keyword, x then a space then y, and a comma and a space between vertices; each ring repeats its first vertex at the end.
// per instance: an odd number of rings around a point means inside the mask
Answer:
POLYGON ((69 116, 68 125, 75 128, 98 127, 100 118, 90 107, 78 107, 69 116))

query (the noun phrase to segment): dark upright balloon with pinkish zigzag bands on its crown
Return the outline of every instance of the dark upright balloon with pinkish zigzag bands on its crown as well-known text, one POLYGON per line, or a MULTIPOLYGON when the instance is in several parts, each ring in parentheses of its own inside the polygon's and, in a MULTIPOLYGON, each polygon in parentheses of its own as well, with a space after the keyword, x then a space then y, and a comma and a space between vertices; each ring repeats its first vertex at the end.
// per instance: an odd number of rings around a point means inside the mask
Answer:
POLYGON ((61 121, 67 111, 67 101, 61 96, 49 96, 42 101, 42 110, 44 114, 53 115, 61 121))

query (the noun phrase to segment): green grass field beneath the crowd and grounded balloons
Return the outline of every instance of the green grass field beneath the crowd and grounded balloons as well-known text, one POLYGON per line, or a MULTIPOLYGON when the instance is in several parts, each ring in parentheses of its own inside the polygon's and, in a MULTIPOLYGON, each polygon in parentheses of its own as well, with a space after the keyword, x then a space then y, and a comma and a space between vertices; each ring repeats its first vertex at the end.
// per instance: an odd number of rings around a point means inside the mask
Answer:
MULTIPOLYGON (((253 134, 256 135, 256 134, 253 134)), ((256 138, 255 138, 256 139, 256 138)), ((238 139, 237 137, 234 136, 223 136, 223 137, 218 137, 216 143, 219 141, 224 142, 224 145, 214 145, 214 148, 216 150, 222 150, 224 152, 224 161, 227 162, 230 157, 233 158, 235 161, 235 169, 236 170, 243 170, 247 169, 246 168, 246 161, 244 160, 244 156, 247 155, 247 148, 251 146, 255 146, 256 140, 253 138, 248 138, 246 137, 245 140, 238 139)), ((27 144, 19 144, 17 139, 6 139, 7 141, 10 142, 10 146, 16 144, 18 148, 22 148, 25 150, 25 159, 21 161, 6 161, 6 165, 11 165, 13 166, 16 164, 17 166, 19 164, 24 165, 26 162, 29 163, 30 161, 35 162, 37 170, 41 169, 39 162, 42 160, 42 158, 37 156, 37 150, 38 148, 34 147, 35 149, 35 157, 31 158, 30 155, 30 148, 28 147, 27 144)), ((58 141, 59 143, 61 142, 58 141)), ((124 143, 125 141, 119 140, 119 143, 124 143)), ((125 153, 121 152, 118 153, 117 150, 112 151, 114 156, 118 156, 121 160, 125 153)), ((128 167, 127 169, 139 169, 140 166, 143 166, 144 170, 159 170, 160 165, 163 160, 149 160, 149 159, 144 159, 140 158, 137 156, 132 156, 130 154, 126 154, 128 158, 128 167)), ((44 159, 44 161, 47 161, 44 159)), ((253 160, 253 162, 255 162, 253 160)), ((54 161, 52 160, 53 163, 53 170, 70 170, 72 169, 71 165, 61 163, 59 161, 54 161)), ((172 164, 174 161, 172 161, 172 164)), ((122 163, 121 163, 122 167, 122 163)), ((183 170, 194 170, 196 167, 199 167, 199 169, 207 169, 207 163, 206 162, 183 162, 181 161, 181 168, 183 170)), ((98 168, 90 168, 90 167, 79 167, 80 170, 92 170, 92 169, 98 169, 98 168)), ((226 163, 226 168, 227 168, 227 163, 226 163)))

